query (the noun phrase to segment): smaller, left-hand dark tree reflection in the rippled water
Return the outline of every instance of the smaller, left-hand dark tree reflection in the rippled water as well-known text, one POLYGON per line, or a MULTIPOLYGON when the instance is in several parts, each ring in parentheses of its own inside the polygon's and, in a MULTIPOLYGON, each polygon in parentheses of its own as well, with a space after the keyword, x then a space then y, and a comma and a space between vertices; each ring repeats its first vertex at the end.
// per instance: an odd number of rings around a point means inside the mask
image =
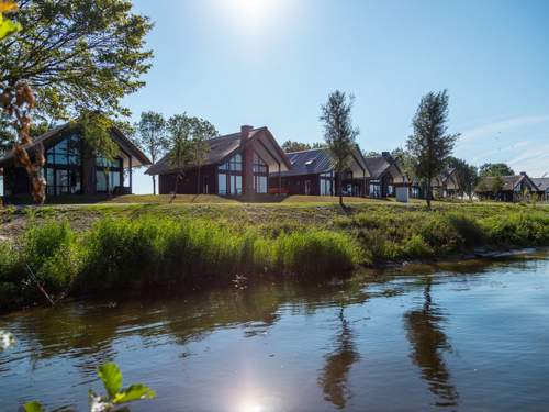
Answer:
POLYGON ((338 409, 344 409, 351 393, 347 388, 349 370, 359 359, 352 342, 352 331, 349 321, 345 319, 344 307, 339 312, 341 331, 337 338, 336 349, 326 356, 326 365, 318 377, 318 385, 324 391, 324 399, 334 403, 338 409))

